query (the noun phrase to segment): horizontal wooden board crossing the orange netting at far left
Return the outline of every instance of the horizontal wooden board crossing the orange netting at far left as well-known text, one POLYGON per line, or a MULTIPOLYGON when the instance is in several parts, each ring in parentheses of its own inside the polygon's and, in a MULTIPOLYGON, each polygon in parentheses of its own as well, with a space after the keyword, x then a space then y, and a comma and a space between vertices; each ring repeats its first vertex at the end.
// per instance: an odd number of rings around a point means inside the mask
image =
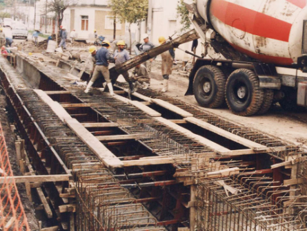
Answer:
MULTIPOLYGON (((61 175, 30 175, 30 176, 8 176, 6 180, 14 179, 16 183, 39 183, 39 182, 59 182, 69 181, 70 174, 61 175)), ((4 183, 4 177, 0 177, 0 184, 4 183)))

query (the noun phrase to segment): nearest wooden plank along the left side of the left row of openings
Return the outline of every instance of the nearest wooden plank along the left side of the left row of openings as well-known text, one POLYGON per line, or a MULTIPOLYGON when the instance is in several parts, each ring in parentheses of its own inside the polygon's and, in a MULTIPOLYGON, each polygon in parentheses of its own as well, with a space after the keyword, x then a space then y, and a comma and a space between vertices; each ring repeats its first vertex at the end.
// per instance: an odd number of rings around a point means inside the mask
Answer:
POLYGON ((68 127, 94 152, 107 167, 123 167, 123 163, 95 136, 75 119, 64 120, 68 127))

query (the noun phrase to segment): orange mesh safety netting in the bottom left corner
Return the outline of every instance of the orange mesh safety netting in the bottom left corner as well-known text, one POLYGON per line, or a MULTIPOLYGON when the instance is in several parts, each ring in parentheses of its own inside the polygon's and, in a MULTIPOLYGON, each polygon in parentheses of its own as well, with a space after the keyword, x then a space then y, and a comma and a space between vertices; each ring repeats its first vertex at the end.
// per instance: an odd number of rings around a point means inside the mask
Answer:
POLYGON ((0 230, 30 231, 12 174, 6 140, 0 123, 0 230))

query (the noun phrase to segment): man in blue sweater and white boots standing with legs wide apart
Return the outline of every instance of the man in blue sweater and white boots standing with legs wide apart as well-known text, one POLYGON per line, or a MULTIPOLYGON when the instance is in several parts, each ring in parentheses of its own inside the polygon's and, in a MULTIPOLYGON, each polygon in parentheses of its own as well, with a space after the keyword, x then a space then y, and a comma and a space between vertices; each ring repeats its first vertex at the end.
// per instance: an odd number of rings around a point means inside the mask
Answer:
POLYGON ((88 82, 88 86, 86 86, 86 90, 84 92, 88 93, 92 84, 94 84, 94 82, 102 76, 104 77, 104 80, 106 80, 110 95, 114 95, 108 66, 110 62, 115 62, 115 58, 110 55, 110 52, 108 50, 108 48, 110 48, 110 41, 104 40, 101 46, 102 48, 97 50, 95 55, 96 66, 92 75, 92 79, 90 80, 90 82, 88 82))

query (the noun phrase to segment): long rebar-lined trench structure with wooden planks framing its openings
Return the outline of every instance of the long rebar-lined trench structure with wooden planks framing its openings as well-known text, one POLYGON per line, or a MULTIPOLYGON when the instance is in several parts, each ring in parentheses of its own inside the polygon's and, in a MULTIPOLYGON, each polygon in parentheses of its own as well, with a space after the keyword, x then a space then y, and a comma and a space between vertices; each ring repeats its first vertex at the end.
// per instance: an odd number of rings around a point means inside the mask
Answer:
POLYGON ((85 94, 68 62, 0 61, 35 174, 70 178, 42 185, 61 229, 304 230, 299 147, 152 90, 85 94))

